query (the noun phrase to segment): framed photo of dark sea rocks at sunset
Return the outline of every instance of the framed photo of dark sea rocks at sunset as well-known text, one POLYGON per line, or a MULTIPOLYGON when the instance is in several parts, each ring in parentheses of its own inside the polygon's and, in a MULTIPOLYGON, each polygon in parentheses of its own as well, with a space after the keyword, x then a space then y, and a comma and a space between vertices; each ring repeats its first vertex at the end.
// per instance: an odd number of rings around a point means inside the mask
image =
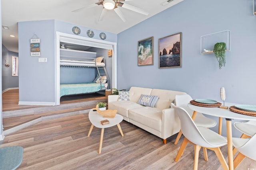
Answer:
POLYGON ((181 32, 158 39, 159 68, 181 67, 181 40, 181 32))

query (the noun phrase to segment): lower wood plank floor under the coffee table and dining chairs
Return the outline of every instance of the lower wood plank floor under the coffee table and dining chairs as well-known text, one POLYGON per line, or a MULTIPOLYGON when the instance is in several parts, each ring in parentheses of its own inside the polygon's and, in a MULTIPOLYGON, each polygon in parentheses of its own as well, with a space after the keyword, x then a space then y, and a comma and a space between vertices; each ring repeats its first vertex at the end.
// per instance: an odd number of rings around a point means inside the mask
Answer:
MULTIPOLYGON (((162 139, 126 121, 120 123, 124 137, 117 126, 106 128, 102 152, 98 154, 100 129, 94 127, 90 137, 88 114, 42 121, 0 141, 0 147, 24 147, 24 157, 18 170, 192 170, 194 146, 188 144, 179 162, 174 162, 183 136, 174 145, 176 135, 162 139)), ((227 159, 227 147, 221 148, 227 159)), ((202 150, 199 170, 222 170, 216 155, 208 150, 208 162, 202 150)), ((256 168, 256 162, 245 158, 238 170, 256 168)))

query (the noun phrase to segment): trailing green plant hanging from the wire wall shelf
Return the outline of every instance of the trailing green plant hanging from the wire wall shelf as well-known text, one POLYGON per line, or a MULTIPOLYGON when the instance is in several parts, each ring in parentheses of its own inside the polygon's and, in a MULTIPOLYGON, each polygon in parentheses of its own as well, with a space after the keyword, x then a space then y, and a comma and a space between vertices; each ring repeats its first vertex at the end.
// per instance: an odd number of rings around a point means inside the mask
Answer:
POLYGON ((221 69, 226 64, 226 43, 216 43, 213 52, 219 62, 219 68, 221 69))

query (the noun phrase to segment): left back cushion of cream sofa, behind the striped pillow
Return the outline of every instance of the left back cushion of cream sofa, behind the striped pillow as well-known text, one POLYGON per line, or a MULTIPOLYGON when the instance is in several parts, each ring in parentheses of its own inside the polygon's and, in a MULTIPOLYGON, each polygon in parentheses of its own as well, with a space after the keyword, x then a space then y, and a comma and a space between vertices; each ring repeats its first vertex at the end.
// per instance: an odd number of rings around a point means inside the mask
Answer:
POLYGON ((130 101, 137 103, 142 94, 150 95, 152 88, 142 88, 142 87, 131 87, 130 101))

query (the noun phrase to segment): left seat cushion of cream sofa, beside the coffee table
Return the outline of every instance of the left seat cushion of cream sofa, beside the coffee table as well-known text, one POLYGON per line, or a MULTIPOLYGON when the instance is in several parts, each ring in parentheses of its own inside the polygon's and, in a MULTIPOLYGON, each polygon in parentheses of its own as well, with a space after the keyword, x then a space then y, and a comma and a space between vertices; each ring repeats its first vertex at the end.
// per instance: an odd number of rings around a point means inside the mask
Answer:
POLYGON ((144 107, 144 106, 142 106, 140 104, 136 104, 131 101, 124 101, 124 100, 108 103, 108 109, 117 109, 117 113, 120 115, 123 115, 125 117, 128 117, 129 109, 134 109, 134 108, 139 108, 139 107, 144 107))

